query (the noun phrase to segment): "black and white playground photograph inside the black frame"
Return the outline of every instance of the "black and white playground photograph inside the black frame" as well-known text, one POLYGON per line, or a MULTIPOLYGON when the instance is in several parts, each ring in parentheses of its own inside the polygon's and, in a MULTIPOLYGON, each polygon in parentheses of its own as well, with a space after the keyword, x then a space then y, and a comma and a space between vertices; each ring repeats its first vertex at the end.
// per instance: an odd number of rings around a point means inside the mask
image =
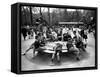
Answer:
POLYGON ((21 71, 95 67, 96 11, 21 6, 21 71))

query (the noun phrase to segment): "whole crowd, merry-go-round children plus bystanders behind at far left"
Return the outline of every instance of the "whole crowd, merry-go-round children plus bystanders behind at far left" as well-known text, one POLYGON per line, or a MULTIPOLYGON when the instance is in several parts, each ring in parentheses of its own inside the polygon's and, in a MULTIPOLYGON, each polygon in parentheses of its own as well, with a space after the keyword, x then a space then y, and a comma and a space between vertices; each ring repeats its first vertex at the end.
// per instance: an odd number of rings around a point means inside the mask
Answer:
MULTIPOLYGON (((45 46, 47 42, 57 42, 62 41, 66 42, 66 50, 67 51, 76 51, 76 59, 80 60, 79 54, 80 51, 86 52, 87 47, 87 39, 88 39, 89 29, 84 27, 67 27, 63 26, 42 26, 42 28, 32 28, 32 29, 22 29, 22 34, 24 40, 26 40, 26 36, 33 38, 35 42, 25 51, 24 55, 30 50, 33 49, 33 56, 36 51, 41 50, 40 48, 45 46)), ((57 57, 57 62, 61 63, 60 55, 63 51, 62 44, 57 43, 57 45, 53 48, 55 53, 52 54, 51 62, 54 63, 55 57, 57 57)))

